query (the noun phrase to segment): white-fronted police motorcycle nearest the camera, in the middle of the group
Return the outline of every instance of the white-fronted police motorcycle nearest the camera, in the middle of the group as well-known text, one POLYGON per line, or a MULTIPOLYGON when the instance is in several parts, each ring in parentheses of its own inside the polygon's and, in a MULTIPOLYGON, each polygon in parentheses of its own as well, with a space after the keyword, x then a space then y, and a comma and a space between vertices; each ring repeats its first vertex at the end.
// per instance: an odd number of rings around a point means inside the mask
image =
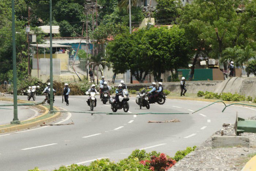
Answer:
MULTIPOLYGON (((112 107, 112 111, 116 112, 118 109, 122 109, 124 110, 124 112, 128 112, 129 110, 129 92, 127 89, 123 90, 123 93, 118 94, 118 99, 119 102, 115 103, 114 106, 112 107)), ((114 99, 115 97, 110 98, 110 103, 113 104, 114 103, 114 99)))

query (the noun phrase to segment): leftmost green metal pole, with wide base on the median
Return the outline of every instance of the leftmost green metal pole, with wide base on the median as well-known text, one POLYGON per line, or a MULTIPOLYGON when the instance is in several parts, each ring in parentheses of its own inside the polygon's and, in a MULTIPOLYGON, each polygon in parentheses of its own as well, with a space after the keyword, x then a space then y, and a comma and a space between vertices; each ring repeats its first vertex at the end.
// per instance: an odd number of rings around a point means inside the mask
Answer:
POLYGON ((14 118, 11 124, 20 124, 18 119, 18 99, 17 99, 17 71, 16 71, 16 45, 15 45, 15 14, 14 14, 14 0, 12 0, 12 73, 13 73, 13 105, 14 118))

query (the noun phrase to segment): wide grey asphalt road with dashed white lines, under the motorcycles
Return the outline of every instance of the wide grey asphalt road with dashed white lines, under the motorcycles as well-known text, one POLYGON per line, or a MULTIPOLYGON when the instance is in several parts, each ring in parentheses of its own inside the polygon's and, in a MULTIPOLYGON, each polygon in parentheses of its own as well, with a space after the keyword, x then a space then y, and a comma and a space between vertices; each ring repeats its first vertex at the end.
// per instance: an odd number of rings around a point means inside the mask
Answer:
MULTIPOLYGON (((54 105, 68 111, 89 111, 87 97, 69 96, 69 106, 66 106, 65 102, 61 103, 62 97, 56 96, 54 105)), ((26 99, 26 96, 19 98, 26 99)), ((43 99, 43 96, 37 96, 37 101, 43 99)), ((112 112, 109 104, 103 105, 97 99, 95 112, 112 112)), ((223 123, 234 123, 236 112, 242 118, 256 115, 255 109, 239 106, 229 107, 222 113, 223 104, 214 104, 191 114, 208 103, 170 99, 163 105, 151 105, 149 111, 190 114, 133 115, 148 110, 140 110, 135 98, 130 98, 129 104, 128 115, 63 113, 54 123, 74 122, 74 125, 36 127, 0 134, 0 170, 26 171, 34 167, 53 170, 72 163, 90 164, 99 158, 117 162, 135 149, 174 156, 178 150, 203 143, 221 129, 223 123), (149 120, 171 119, 181 122, 147 123, 149 120)))

